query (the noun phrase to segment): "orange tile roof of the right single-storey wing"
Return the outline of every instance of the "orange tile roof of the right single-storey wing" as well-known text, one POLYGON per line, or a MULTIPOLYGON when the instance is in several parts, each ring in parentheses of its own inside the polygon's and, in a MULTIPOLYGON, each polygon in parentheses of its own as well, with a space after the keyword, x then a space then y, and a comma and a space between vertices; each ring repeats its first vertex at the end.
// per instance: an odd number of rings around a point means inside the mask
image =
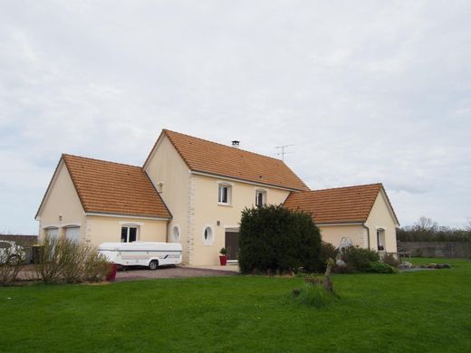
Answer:
POLYGON ((311 214, 316 224, 363 223, 368 219, 382 187, 381 184, 371 184, 292 192, 284 206, 311 214))

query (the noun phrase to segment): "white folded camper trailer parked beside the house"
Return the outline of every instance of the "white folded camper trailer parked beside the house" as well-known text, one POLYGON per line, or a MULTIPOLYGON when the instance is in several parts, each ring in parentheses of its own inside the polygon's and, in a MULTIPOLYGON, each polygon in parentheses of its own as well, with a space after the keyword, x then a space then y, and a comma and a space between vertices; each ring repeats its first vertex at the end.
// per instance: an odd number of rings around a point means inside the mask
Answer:
POLYGON ((159 266, 181 263, 181 243, 102 243, 98 251, 121 266, 159 266))

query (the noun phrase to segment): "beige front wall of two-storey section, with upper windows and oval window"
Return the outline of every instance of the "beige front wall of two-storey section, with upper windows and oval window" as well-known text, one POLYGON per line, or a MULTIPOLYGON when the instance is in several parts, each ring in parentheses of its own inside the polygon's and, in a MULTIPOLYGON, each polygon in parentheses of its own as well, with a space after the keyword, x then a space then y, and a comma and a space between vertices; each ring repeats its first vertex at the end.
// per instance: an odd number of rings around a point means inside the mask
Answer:
POLYGON ((210 265, 218 264, 219 250, 225 247, 226 228, 238 227, 242 210, 255 205, 255 190, 266 191, 266 203, 279 205, 289 195, 289 191, 280 190, 266 186, 255 186, 225 180, 224 178, 192 175, 192 188, 194 193, 194 220, 193 229, 193 253, 191 264, 210 265), (218 205, 218 183, 232 186, 231 205, 218 205), (217 221, 220 222, 217 225, 217 221), (204 231, 209 225, 213 229, 214 242, 210 245, 204 244, 204 231))

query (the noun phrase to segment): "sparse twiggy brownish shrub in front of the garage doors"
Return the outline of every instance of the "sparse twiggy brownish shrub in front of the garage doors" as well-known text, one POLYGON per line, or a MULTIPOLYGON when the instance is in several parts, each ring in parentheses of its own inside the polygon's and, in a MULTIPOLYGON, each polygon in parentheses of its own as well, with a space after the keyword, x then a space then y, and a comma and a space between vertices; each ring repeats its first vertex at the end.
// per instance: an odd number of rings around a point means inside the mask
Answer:
POLYGON ((45 236, 34 271, 45 283, 103 281, 111 264, 96 248, 67 238, 45 236))

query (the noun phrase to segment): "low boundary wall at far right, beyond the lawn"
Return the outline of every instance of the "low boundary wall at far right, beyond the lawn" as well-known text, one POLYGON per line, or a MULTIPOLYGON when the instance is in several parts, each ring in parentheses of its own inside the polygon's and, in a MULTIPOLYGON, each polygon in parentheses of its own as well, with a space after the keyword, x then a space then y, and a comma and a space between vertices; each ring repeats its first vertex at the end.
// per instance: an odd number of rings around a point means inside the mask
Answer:
POLYGON ((467 242, 398 242, 399 253, 422 257, 452 257, 469 259, 471 243, 467 242))

